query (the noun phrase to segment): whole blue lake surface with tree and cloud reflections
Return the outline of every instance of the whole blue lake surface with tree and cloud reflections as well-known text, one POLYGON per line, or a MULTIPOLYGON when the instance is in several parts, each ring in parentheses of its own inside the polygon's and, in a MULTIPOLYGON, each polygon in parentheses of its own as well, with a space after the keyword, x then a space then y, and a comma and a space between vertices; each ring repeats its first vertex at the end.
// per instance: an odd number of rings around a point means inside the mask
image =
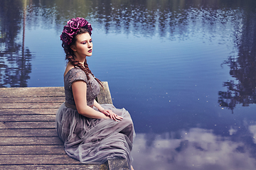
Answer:
POLYGON ((0 4, 0 87, 63 86, 59 36, 80 16, 90 69, 134 120, 134 169, 256 169, 255 0, 0 4))

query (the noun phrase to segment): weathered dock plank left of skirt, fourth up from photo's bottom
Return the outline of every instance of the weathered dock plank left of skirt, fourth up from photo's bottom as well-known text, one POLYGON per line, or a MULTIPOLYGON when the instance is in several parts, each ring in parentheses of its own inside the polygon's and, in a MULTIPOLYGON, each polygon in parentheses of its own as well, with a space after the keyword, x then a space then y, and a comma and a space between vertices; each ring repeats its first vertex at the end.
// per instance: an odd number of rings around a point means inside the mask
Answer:
POLYGON ((60 138, 55 137, 0 137, 0 145, 62 145, 60 138))

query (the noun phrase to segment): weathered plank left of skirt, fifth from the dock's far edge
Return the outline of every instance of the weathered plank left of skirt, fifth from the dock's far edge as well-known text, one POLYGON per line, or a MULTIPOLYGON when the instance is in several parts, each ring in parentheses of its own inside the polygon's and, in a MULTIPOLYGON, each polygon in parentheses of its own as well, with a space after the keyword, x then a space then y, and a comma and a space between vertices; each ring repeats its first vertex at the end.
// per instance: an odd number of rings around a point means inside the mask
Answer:
POLYGON ((55 115, 0 115, 0 122, 46 122, 55 121, 55 115))

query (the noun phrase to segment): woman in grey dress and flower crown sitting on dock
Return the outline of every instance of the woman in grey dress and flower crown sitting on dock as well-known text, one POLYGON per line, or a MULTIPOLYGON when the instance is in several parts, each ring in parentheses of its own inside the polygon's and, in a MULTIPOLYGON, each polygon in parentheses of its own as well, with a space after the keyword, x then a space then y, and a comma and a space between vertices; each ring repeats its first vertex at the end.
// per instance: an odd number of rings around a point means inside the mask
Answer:
POLYGON ((132 169, 132 118, 124 108, 95 101, 102 84, 86 62, 86 57, 92 55, 91 31, 84 18, 72 18, 60 35, 68 64, 64 73, 65 103, 56 115, 58 136, 68 156, 82 163, 102 164, 107 159, 125 158, 132 169))

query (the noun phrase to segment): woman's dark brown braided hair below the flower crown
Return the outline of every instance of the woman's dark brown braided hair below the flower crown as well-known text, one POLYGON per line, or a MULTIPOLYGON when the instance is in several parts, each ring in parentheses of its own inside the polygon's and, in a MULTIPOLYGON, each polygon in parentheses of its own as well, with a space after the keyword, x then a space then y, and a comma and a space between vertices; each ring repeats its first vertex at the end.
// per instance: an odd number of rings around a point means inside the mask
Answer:
MULTIPOLYGON (((88 67, 86 58, 85 58, 85 62, 84 62, 85 67, 83 67, 83 65, 78 60, 75 60, 74 52, 71 49, 71 46, 74 45, 77 40, 77 35, 80 35, 82 33, 89 33, 90 35, 92 34, 90 32, 90 30, 88 30, 87 28, 80 28, 78 30, 78 33, 75 33, 75 35, 73 35, 73 39, 72 39, 72 42, 70 43, 70 45, 65 45, 64 43, 62 43, 62 47, 64 48, 64 51, 66 54, 65 60, 68 60, 71 64, 73 64, 73 66, 79 67, 80 69, 82 69, 82 71, 85 72, 87 79, 89 80, 90 79, 89 74, 92 74, 92 72, 90 71, 90 69, 88 67)), ((92 74, 92 76, 93 76, 93 74, 92 74)), ((100 79, 95 78, 95 80, 100 84, 100 86, 102 86, 100 79)), ((102 88, 103 88, 103 86, 102 86, 102 88)))

